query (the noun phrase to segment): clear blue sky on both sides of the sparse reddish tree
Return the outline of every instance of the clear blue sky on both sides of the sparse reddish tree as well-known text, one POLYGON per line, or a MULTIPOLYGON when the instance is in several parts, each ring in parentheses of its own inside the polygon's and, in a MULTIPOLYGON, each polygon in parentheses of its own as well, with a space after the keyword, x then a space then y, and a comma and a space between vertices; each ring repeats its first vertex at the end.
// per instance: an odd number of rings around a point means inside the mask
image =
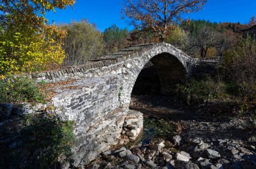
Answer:
MULTIPOLYGON (((100 31, 104 31, 114 23, 118 27, 131 26, 127 20, 121 19, 121 3, 123 0, 76 0, 73 9, 57 10, 56 13, 46 14, 49 21, 55 23, 70 23, 80 19, 88 19, 90 23, 96 23, 100 31)), ((206 19, 216 22, 247 23, 256 15, 256 0, 208 0, 203 10, 186 15, 189 19, 206 19)))

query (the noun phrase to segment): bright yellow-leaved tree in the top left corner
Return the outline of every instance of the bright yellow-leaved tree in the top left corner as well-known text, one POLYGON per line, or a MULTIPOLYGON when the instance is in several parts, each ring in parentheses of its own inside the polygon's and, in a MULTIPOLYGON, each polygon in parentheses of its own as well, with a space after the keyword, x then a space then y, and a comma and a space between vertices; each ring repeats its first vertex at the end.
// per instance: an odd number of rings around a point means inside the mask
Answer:
POLYGON ((57 68, 65 58, 65 31, 49 25, 44 15, 75 1, 0 1, 0 74, 57 68))

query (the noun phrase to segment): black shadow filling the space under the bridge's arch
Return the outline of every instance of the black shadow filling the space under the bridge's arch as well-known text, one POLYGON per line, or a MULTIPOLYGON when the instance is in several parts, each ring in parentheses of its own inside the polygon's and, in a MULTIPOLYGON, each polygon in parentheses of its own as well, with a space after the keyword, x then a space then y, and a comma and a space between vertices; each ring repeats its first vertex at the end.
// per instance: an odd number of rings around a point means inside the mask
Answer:
POLYGON ((170 95, 186 75, 177 57, 166 52, 158 54, 139 72, 131 95, 170 95))

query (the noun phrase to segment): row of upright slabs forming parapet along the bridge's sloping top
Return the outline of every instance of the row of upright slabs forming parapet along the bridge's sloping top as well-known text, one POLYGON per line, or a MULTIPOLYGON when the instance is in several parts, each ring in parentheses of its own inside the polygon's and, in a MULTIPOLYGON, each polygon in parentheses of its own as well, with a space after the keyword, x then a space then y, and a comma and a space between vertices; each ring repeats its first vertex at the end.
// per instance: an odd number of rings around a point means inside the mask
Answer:
MULTIPOLYGON (((187 64, 193 64, 197 62, 197 59, 191 58, 190 56, 170 44, 143 44, 137 46, 129 46, 127 48, 124 48, 123 50, 115 52, 114 54, 102 56, 101 58, 96 60, 89 60, 88 62, 86 62, 86 64, 63 67, 57 70, 32 73, 29 74, 29 76, 30 78, 34 78, 38 81, 44 80, 46 82, 57 82, 61 80, 77 78, 83 76, 84 74, 94 74, 94 72, 100 71, 104 67, 113 67, 113 65, 124 62, 125 60, 141 57, 145 52, 149 52, 150 50, 154 50, 157 48, 169 48, 173 52, 179 53, 186 60, 187 64)), ((105 71, 106 69, 103 70, 105 71)))

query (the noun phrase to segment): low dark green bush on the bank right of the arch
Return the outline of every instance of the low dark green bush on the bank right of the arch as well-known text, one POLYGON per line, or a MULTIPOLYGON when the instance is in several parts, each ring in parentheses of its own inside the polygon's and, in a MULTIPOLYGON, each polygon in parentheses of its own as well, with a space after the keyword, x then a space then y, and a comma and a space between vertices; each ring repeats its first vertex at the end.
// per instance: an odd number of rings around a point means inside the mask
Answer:
POLYGON ((203 111, 208 114, 244 113, 255 107, 255 99, 241 97, 245 93, 239 84, 224 80, 191 79, 186 84, 178 84, 177 93, 183 96, 188 105, 205 109, 203 111))

